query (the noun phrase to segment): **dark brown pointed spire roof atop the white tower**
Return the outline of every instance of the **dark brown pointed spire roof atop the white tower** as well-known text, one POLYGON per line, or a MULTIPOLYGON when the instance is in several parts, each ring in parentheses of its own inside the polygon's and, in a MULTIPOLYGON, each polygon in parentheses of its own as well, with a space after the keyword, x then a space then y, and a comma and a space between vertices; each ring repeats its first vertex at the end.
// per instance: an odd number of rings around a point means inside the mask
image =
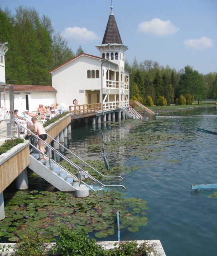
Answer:
POLYGON ((120 33, 118 31, 118 26, 116 24, 112 9, 113 6, 111 6, 111 12, 109 15, 109 20, 107 23, 102 44, 122 44, 122 40, 120 38, 120 33))

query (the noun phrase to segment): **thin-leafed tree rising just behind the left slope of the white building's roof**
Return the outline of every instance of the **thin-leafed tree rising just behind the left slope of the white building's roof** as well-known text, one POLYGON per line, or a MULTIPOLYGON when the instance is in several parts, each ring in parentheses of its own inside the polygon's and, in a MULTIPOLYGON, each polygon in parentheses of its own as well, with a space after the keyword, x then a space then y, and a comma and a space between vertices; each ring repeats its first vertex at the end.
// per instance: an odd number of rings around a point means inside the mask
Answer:
POLYGON ((75 54, 69 49, 67 41, 63 39, 60 32, 53 36, 53 56, 55 67, 75 57, 75 54))

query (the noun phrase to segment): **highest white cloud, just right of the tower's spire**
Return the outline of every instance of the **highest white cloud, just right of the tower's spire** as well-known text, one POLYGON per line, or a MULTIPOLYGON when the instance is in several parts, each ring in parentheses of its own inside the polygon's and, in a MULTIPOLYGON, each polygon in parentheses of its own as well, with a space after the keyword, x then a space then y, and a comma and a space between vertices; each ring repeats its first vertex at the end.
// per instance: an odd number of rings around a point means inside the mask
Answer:
POLYGON ((145 34, 152 34, 155 36, 166 36, 168 34, 174 34, 179 30, 170 20, 160 20, 154 18, 151 21, 144 21, 139 24, 138 31, 145 34))

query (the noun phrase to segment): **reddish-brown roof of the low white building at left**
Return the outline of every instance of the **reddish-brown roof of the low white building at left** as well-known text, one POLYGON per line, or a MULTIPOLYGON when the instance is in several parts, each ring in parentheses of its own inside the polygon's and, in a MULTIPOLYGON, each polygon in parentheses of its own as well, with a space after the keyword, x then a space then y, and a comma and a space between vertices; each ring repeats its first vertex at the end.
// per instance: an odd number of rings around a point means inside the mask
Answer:
MULTIPOLYGON (((14 92, 57 92, 50 85, 25 85, 25 84, 11 84, 14 92)), ((9 88, 6 88, 6 92, 9 88)))

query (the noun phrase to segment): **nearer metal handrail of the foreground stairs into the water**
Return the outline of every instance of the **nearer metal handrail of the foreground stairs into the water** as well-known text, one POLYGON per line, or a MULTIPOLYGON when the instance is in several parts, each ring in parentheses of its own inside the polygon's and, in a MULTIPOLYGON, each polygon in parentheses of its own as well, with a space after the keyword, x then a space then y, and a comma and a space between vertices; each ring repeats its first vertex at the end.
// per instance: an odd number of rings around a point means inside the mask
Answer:
MULTIPOLYGON (((16 120, 14 120, 15 122, 17 122, 16 120)), ((20 126, 22 126, 24 129, 26 129, 29 133, 31 133, 32 135, 34 135, 34 137, 36 137, 37 139, 41 140, 41 138, 39 138, 38 136, 36 136, 36 134, 34 134, 33 132, 31 132, 28 128, 26 128, 25 126, 23 126, 22 124, 19 124, 20 126)), ((18 126, 19 129, 19 126, 18 126)), ((48 134, 47 134, 48 135, 48 134)), ((48 135, 49 136, 49 135, 48 135)), ((51 136, 49 136, 51 139, 53 139, 51 136)), ((53 139, 54 140, 54 139, 53 139)), ((43 141, 43 140, 41 140, 43 141)), ((89 178, 91 178, 91 180, 98 182, 101 186, 103 187, 122 187, 124 188, 124 190, 126 191, 126 188, 123 185, 105 185, 102 182, 100 182, 99 180, 97 180, 96 178, 94 178, 91 174, 89 174, 88 172, 86 172, 85 170, 83 170, 81 167, 79 167, 77 164, 75 164, 74 162, 72 162, 71 160, 69 160, 67 157, 63 156, 63 154, 61 154, 60 152, 58 152, 55 148, 51 147, 49 144, 47 144, 45 141, 43 141, 43 143, 50 148, 51 150, 53 150, 55 153, 57 153, 59 156, 61 156, 61 158, 63 158, 64 160, 66 160, 69 164, 71 164, 73 167, 75 167, 78 171, 82 171, 82 173, 85 173, 89 178)), ((59 143, 59 142, 57 142, 59 143)), ((61 145, 61 144, 60 144, 61 145)), ((61 145, 62 146, 62 145, 61 145)), ((65 147, 64 147, 65 148, 65 147)), ((67 148, 66 148, 67 149, 67 148)), ((70 151, 70 150, 69 150, 70 151)), ((41 151, 40 151, 41 152, 41 151)), ((70 151, 71 152, 71 151, 70 151)), ((42 153, 42 152, 41 152, 42 153)), ((72 153, 72 152, 71 152, 72 153)), ((44 153, 42 153, 44 154, 44 153)), ((72 153, 73 154, 73 153, 72 153)), ((45 154, 44 154, 45 155, 45 154)), ((79 158, 81 159, 81 158, 79 158)), ((81 159, 82 160, 82 159, 81 159)), ((83 160, 82 160, 83 161, 83 160)), ((90 166, 91 167, 91 166, 90 166)), ((71 174, 71 172, 69 172, 71 174)), ((122 177, 121 177, 122 178, 122 177)))

